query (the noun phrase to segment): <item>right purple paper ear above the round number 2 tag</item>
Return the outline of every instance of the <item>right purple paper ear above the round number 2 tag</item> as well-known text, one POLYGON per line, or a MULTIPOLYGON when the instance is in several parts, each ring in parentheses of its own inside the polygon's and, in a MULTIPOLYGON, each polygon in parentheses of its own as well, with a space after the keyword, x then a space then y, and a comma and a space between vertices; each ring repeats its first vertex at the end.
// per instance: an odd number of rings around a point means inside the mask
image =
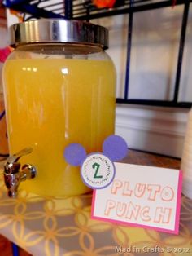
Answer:
POLYGON ((103 153, 112 161, 120 161, 128 153, 127 143, 119 135, 110 135, 103 142, 103 153))

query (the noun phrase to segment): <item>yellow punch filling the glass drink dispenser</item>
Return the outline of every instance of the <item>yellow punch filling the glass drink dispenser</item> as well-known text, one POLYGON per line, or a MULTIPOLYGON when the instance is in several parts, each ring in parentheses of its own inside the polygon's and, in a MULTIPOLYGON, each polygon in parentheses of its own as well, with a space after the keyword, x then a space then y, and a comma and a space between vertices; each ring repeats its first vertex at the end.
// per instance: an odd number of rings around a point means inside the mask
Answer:
POLYGON ((114 133, 114 76, 110 60, 7 60, 10 153, 32 147, 20 162, 37 168, 37 177, 20 188, 47 196, 89 191, 63 151, 69 143, 81 143, 87 153, 102 151, 103 140, 114 133))

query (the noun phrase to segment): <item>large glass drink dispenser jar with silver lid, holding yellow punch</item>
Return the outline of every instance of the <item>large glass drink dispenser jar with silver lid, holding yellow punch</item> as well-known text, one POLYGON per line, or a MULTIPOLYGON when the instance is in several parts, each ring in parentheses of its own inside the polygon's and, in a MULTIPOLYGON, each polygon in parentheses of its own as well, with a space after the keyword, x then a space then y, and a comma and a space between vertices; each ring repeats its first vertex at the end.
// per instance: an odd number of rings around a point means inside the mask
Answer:
POLYGON ((3 69, 10 155, 37 169, 20 183, 28 192, 72 196, 89 192, 80 167, 63 157, 70 143, 102 151, 114 133, 116 73, 107 29, 75 20, 33 20, 11 27, 15 51, 3 69), (19 158, 19 157, 18 157, 19 158))

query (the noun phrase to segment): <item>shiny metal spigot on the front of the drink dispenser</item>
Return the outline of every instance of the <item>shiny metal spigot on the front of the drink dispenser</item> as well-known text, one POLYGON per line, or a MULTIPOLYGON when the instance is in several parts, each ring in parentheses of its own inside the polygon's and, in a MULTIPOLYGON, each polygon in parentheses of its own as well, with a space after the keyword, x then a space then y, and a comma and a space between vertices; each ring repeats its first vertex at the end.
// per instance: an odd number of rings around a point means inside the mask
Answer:
POLYGON ((20 157, 28 155, 33 151, 33 148, 24 148, 20 152, 7 158, 4 165, 4 181, 8 189, 8 196, 15 198, 17 196, 18 187, 21 181, 33 179, 37 174, 37 170, 30 164, 25 164, 21 167, 18 160, 20 157))

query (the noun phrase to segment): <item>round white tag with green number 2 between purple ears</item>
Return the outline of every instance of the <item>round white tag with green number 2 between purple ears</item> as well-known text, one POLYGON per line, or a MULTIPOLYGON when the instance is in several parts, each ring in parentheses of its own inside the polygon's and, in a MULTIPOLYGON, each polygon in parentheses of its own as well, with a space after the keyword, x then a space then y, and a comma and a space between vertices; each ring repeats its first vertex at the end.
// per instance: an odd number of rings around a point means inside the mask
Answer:
POLYGON ((115 177, 113 162, 102 153, 89 154, 81 165, 83 182, 94 189, 107 187, 115 177))

